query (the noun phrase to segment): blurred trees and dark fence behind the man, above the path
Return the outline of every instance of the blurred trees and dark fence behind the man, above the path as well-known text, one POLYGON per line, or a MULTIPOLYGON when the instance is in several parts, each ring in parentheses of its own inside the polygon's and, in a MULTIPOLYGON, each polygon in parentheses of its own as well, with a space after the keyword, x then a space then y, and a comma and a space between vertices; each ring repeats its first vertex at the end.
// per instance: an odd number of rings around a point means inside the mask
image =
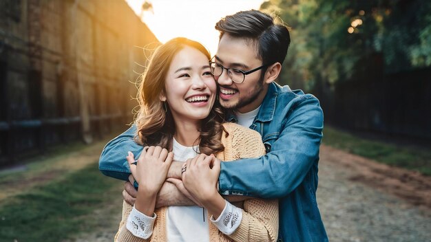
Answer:
POLYGON ((292 28, 281 82, 326 122, 431 139, 430 1, 266 1, 292 28))

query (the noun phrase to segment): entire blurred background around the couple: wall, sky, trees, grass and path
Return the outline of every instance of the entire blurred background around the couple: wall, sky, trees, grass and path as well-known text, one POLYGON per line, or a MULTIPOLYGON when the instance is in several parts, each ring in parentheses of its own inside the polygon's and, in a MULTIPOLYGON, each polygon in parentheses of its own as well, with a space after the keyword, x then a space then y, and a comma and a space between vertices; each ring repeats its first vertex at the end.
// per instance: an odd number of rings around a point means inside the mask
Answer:
POLYGON ((186 36, 214 54, 215 23, 252 8, 291 28, 278 83, 324 109, 317 199, 330 240, 426 241, 424 0, 0 0, 0 241, 112 241, 122 183, 96 164, 133 122, 151 51, 186 36))

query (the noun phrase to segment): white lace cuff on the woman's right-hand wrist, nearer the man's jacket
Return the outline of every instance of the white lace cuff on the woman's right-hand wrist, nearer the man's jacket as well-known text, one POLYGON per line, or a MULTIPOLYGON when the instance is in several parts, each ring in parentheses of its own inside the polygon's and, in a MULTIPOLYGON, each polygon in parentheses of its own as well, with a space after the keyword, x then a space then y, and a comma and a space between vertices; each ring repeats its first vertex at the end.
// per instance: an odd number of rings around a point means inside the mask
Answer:
POLYGON ((242 220, 242 209, 233 206, 229 201, 226 201, 226 206, 224 210, 218 217, 214 220, 211 216, 211 222, 217 226, 218 230, 223 234, 230 235, 238 228, 242 220))

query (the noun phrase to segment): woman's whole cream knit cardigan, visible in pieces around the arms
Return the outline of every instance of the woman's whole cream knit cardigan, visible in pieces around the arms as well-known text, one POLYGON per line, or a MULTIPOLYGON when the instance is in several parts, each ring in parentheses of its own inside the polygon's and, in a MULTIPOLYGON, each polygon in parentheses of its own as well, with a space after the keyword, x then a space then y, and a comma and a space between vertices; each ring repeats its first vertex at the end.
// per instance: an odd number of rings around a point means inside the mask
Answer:
MULTIPOLYGON (((262 137, 256 131, 247 129, 234 123, 223 124, 229 133, 222 135, 224 151, 218 153, 218 159, 232 161, 235 159, 260 157, 265 154, 262 137)), ((143 241, 167 241, 166 212, 167 207, 158 208, 154 212, 157 219, 154 222, 153 234, 149 239, 141 239, 134 236, 126 228, 127 217, 132 211, 132 206, 123 201, 123 218, 120 228, 115 236, 115 241, 143 242, 143 241)), ((211 214, 209 214, 211 217, 211 214)), ((218 228, 209 222, 209 241, 276 241, 278 236, 278 201, 264 199, 250 199, 244 201, 242 221, 239 227, 231 235, 222 234, 218 228)))

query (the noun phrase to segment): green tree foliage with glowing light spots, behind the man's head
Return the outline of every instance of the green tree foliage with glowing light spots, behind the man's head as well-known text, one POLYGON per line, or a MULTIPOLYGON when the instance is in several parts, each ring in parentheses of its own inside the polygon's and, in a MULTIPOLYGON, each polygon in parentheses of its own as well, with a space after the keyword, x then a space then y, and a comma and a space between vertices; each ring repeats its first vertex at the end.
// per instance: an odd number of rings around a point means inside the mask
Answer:
POLYGON ((294 88, 318 91, 377 72, 431 65, 426 1, 269 0, 261 9, 291 27, 280 81, 294 88))

